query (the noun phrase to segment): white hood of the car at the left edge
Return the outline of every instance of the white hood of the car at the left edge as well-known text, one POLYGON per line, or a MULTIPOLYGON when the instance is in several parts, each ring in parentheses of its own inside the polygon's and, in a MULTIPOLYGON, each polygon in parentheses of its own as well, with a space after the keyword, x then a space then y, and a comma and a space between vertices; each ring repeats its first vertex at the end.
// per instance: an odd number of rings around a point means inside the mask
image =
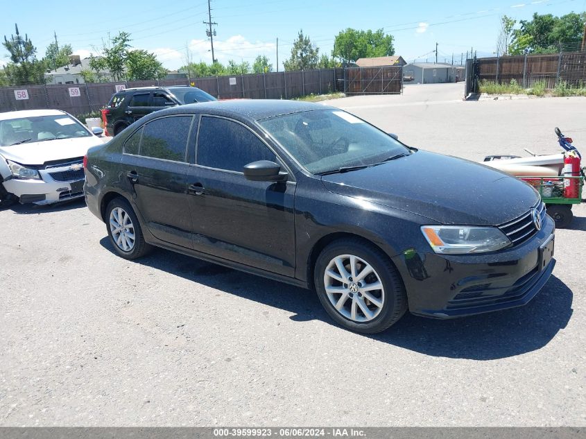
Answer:
POLYGON ((42 165, 53 160, 82 157, 87 149, 103 144, 96 136, 54 139, 13 146, 0 146, 0 155, 19 164, 42 165))

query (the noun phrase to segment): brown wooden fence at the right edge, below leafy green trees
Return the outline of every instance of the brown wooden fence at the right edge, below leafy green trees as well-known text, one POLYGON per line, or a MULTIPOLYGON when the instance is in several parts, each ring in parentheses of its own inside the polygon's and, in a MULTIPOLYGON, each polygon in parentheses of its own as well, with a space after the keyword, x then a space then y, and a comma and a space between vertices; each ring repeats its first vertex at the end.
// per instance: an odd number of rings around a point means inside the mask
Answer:
MULTIPOLYGON (((469 64, 466 65, 468 69, 469 64)), ((515 80, 525 88, 538 81, 543 81, 546 89, 553 89, 560 80, 573 87, 586 85, 586 52, 479 58, 472 68, 476 80, 500 84, 515 80)))

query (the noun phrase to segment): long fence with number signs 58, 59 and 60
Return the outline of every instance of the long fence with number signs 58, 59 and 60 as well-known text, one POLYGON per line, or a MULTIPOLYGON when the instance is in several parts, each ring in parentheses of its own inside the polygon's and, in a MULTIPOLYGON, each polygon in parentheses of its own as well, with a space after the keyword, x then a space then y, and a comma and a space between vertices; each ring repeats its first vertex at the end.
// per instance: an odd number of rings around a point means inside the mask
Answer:
POLYGON ((121 87, 153 85, 193 84, 220 99, 289 99, 307 94, 343 91, 343 83, 336 80, 342 71, 318 69, 118 83, 19 85, 0 88, 0 112, 53 108, 74 115, 87 114, 103 108, 121 87))

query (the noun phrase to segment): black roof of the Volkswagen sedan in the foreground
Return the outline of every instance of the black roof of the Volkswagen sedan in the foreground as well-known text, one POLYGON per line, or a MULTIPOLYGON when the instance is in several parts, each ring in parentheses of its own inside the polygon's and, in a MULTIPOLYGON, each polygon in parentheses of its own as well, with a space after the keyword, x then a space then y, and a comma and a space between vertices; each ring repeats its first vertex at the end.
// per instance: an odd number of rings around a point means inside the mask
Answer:
MULTIPOLYGON (((244 117, 260 120, 275 117, 281 114, 291 114, 304 111, 334 109, 329 105, 302 101, 286 101, 282 99, 232 99, 230 101, 200 102, 162 110, 167 114, 186 112, 217 114, 227 117, 244 117)), ((162 112, 157 112, 162 114, 162 112)))

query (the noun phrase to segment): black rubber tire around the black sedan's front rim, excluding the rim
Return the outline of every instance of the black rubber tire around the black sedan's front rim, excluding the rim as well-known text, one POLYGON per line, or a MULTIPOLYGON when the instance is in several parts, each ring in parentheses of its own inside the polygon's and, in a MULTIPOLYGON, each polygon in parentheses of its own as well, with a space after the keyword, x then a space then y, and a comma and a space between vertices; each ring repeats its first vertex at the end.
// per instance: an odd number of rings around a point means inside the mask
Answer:
POLYGON ((314 285, 318 298, 331 318, 339 325, 354 332, 374 334, 384 331, 393 325, 403 315, 406 309, 406 295, 397 269, 388 260, 386 255, 375 250, 372 246, 357 242, 334 242, 325 248, 316 261, 314 270, 314 285), (384 286, 385 300, 379 315, 369 322, 353 322, 342 316, 329 302, 323 276, 325 268, 331 259, 339 255, 355 255, 368 262, 379 275, 384 286))

